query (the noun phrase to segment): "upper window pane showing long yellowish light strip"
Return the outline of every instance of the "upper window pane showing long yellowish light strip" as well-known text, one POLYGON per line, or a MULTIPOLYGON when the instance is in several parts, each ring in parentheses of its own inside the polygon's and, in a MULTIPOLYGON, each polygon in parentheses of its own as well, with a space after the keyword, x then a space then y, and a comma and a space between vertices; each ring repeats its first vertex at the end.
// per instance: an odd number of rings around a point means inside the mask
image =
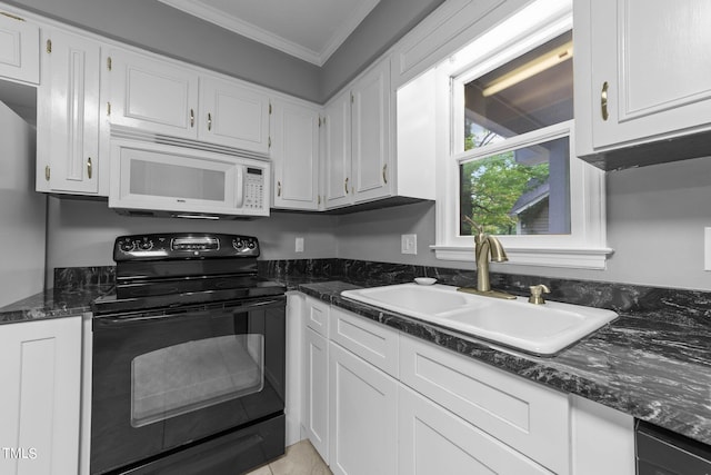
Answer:
POLYGON ((464 150, 573 118, 572 32, 464 85, 464 150))

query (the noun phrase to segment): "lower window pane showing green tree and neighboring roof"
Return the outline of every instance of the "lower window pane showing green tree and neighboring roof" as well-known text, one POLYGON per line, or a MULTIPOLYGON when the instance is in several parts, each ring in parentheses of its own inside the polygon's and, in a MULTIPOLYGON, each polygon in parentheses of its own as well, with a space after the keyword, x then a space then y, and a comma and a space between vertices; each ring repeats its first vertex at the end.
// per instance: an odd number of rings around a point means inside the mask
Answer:
POLYGON ((461 164, 460 211, 492 235, 570 234, 569 165, 568 137, 461 164))

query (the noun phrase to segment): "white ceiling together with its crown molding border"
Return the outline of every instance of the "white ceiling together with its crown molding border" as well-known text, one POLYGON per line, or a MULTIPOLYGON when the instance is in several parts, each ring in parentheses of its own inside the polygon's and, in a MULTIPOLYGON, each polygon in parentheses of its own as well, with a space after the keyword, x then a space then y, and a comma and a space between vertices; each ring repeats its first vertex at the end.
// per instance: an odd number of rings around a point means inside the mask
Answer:
POLYGON ((380 0, 159 0, 322 66, 380 0))

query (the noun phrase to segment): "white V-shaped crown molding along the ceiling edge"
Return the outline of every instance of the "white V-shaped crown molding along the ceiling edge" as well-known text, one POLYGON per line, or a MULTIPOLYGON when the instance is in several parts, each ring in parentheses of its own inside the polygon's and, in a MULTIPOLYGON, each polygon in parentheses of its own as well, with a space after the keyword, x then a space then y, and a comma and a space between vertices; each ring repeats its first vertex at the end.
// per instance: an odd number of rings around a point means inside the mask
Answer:
MULTIPOLYGON (((336 52, 343 41, 346 41, 346 39, 356 30, 360 22, 363 21, 371 10, 380 2, 380 0, 361 1, 356 11, 353 11, 351 16, 346 18, 338 28, 333 30, 333 34, 329 38, 323 48, 320 51, 314 51, 238 17, 227 14, 224 11, 210 7, 200 0, 158 1, 319 67, 323 66, 326 61, 329 60, 331 55, 336 52)), ((318 14, 318 12, 314 12, 314 14, 318 14)))

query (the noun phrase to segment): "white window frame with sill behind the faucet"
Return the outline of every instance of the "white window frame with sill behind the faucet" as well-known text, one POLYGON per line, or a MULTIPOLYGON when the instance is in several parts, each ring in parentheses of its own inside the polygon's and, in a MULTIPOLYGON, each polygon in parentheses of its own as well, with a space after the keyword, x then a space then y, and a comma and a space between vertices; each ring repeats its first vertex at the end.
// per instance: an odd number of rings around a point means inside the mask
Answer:
POLYGON ((497 238, 511 264, 604 269, 612 254, 607 246, 604 171, 575 156, 572 119, 462 151, 463 85, 572 28, 572 6, 537 17, 531 17, 535 11, 532 9, 540 12, 545 6, 540 1, 529 4, 437 67, 437 229, 435 244, 431 247, 438 259, 474 260, 473 237, 459 235, 459 166, 462 161, 569 136, 570 234, 497 238), (507 31, 520 32, 507 37, 507 31))

